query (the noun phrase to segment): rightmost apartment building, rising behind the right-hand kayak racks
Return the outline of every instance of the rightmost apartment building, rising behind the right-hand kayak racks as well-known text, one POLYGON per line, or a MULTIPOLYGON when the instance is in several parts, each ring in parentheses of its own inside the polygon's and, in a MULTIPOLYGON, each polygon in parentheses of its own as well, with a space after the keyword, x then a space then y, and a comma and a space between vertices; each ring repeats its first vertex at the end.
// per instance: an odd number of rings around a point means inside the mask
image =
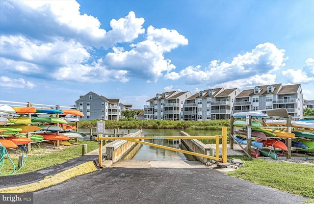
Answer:
POLYGON ((302 116, 301 84, 271 84, 243 90, 235 98, 234 112, 286 108, 291 116, 302 116))

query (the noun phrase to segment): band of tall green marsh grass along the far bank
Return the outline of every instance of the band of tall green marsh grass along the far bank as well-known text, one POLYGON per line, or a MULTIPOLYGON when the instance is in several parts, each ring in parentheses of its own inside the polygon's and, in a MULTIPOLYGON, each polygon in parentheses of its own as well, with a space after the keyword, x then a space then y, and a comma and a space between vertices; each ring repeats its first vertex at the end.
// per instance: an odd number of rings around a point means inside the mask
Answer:
MULTIPOLYGON (((96 128, 97 121, 79 121, 79 128, 96 128)), ((171 120, 135 120, 120 119, 119 121, 105 121, 105 128, 122 129, 206 129, 220 130, 222 127, 230 128, 230 119, 210 121, 171 121, 171 120)))

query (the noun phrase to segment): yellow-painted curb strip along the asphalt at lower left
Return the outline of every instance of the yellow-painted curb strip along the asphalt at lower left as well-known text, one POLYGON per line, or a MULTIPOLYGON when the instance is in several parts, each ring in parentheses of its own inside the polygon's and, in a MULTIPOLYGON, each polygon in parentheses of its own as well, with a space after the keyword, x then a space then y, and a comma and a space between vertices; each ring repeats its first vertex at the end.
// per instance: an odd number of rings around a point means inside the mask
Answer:
POLYGON ((66 180, 69 180, 74 177, 78 177, 84 174, 89 174, 97 171, 97 167, 94 164, 94 161, 88 161, 83 164, 80 164, 71 169, 65 170, 53 176, 45 177, 44 179, 29 183, 26 185, 8 187, 0 189, 0 193, 28 193, 41 190, 43 188, 50 187, 52 185, 56 185, 62 183, 66 180))

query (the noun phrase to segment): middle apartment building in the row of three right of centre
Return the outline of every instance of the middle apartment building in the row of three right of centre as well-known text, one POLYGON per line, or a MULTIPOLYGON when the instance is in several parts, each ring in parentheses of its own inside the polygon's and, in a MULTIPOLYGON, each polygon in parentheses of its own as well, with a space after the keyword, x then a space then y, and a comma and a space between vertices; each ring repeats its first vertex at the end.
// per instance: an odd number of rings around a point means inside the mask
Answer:
POLYGON ((200 91, 184 103, 184 120, 229 119, 238 88, 215 88, 200 91))

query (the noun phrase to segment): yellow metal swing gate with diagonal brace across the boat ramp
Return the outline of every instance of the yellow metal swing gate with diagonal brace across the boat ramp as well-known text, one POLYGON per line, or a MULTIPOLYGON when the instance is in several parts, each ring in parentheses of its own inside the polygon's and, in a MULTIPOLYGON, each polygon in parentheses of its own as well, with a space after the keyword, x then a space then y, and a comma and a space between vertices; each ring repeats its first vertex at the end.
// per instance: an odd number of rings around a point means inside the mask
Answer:
POLYGON ((171 150, 175 152, 191 154, 194 156, 205 157, 214 160, 221 160, 223 163, 227 162, 227 128, 222 128, 222 135, 215 136, 165 136, 165 137, 156 137, 156 136, 145 136, 145 137, 102 137, 101 134, 98 135, 97 139, 99 140, 99 166, 103 165, 103 140, 127 140, 131 142, 136 142, 144 145, 149 145, 157 148, 162 148, 166 150, 171 150), (222 138, 222 158, 219 158, 219 138, 222 138), (216 156, 210 156, 201 153, 194 153, 186 150, 180 150, 172 147, 167 147, 163 145, 157 145, 150 142, 141 141, 142 139, 215 139, 216 140, 216 156))

